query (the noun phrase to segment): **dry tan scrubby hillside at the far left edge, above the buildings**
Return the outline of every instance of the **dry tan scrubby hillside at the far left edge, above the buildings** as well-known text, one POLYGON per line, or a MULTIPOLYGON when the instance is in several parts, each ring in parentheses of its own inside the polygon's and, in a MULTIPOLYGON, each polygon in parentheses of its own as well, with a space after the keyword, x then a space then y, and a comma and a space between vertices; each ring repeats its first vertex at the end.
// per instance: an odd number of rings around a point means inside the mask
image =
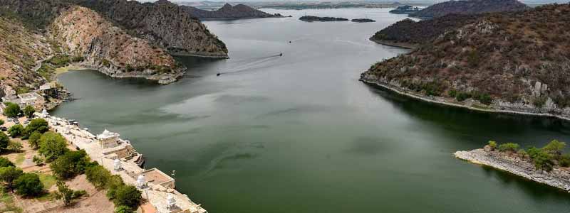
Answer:
POLYGON ((0 17, 0 94, 33 88, 45 80, 35 72, 36 61, 50 55, 46 38, 24 28, 14 18, 0 17))

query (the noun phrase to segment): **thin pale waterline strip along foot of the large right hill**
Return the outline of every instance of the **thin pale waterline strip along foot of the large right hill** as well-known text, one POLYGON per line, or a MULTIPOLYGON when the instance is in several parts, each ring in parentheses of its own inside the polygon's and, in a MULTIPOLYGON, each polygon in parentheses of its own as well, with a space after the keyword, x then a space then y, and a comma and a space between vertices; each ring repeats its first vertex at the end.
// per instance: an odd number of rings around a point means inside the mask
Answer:
POLYGON ((527 116, 544 116, 544 117, 551 117, 551 118, 556 118, 556 119, 561 119, 564 121, 570 121, 569 117, 565 117, 565 116, 559 116, 556 114, 549 114, 549 113, 533 113, 533 112, 528 112, 528 111, 514 111, 514 110, 504 110, 504 109, 482 109, 482 108, 478 108, 478 107, 472 107, 472 106, 467 106, 465 104, 457 104, 457 103, 450 103, 450 102, 445 102, 445 101, 440 101, 437 99, 428 99, 426 97, 421 97, 417 94, 412 94, 412 93, 408 93, 405 91, 400 91, 400 88, 395 88, 393 86, 389 86, 387 84, 383 84, 380 82, 373 82, 370 80, 366 80, 363 78, 360 78, 359 81, 364 82, 365 84, 371 84, 373 86, 378 86, 378 87, 382 87, 384 89, 388 89, 390 92, 395 92, 397 94, 401 94, 404 95, 406 97, 410 97, 413 99, 419 99, 421 101, 424 102, 430 102, 430 103, 434 103, 434 104, 441 104, 441 105, 445 105, 445 106, 450 106, 450 107, 461 107, 461 108, 465 108, 465 109, 470 109, 473 111, 484 111, 484 112, 490 112, 490 113, 502 113, 502 114, 521 114, 521 115, 527 115, 527 116))

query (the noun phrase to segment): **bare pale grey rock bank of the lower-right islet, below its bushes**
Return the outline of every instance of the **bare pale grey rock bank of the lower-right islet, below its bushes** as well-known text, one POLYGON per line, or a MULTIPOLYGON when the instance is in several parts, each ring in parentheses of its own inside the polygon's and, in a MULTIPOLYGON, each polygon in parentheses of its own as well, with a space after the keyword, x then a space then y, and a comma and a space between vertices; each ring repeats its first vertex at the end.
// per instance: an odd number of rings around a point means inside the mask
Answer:
POLYGON ((499 153, 498 151, 485 151, 478 148, 472 151, 457 151, 454 153, 455 158, 467 160, 471 163, 487 165, 498 170, 504 170, 514 175, 519 175, 528 180, 544 183, 546 185, 557 187, 566 192, 570 192, 570 171, 553 168, 549 173, 536 170, 532 163, 528 160, 509 155, 507 153, 499 153))

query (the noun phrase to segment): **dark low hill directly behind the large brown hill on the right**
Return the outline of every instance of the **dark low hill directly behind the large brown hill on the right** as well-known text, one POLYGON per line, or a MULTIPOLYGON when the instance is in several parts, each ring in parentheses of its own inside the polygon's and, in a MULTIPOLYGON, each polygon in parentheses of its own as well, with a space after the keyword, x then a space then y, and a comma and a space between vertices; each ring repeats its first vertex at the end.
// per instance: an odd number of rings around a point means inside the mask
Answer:
POLYGON ((475 20, 477 20, 477 15, 459 14, 448 14, 423 21, 406 18, 376 32, 370 39, 377 43, 415 48, 420 44, 430 42, 445 31, 464 26, 475 20))

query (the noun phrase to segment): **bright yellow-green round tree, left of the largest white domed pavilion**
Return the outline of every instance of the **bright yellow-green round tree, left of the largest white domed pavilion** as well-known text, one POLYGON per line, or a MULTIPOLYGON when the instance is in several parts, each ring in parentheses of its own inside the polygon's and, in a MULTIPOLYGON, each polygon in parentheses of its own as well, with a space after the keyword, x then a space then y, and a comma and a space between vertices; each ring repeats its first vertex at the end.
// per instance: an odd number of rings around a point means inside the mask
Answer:
POLYGON ((68 151, 66 138, 53 131, 43 133, 39 145, 38 152, 46 158, 47 162, 56 160, 60 155, 68 151))

